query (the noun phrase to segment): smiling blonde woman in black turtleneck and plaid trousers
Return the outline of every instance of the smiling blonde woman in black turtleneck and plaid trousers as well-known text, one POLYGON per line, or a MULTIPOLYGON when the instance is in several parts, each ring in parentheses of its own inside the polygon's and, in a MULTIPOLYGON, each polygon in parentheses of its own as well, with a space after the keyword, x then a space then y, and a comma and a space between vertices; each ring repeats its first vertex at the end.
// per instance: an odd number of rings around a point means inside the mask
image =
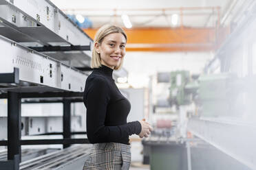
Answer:
POLYGON ((127 123, 131 109, 113 78, 125 57, 127 36, 122 28, 104 25, 94 39, 91 67, 83 101, 87 108, 87 137, 92 151, 83 169, 129 169, 131 151, 129 136, 147 137, 152 128, 146 121, 127 123))

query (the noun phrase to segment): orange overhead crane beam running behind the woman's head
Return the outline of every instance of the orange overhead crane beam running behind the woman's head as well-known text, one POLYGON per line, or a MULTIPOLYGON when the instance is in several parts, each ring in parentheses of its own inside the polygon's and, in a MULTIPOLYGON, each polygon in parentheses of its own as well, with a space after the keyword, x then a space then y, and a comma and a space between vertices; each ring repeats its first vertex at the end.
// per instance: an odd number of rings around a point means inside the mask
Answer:
MULTIPOLYGON (((83 29, 92 39, 97 29, 83 29)), ((211 51, 215 28, 134 28, 125 29, 127 51, 211 51)))

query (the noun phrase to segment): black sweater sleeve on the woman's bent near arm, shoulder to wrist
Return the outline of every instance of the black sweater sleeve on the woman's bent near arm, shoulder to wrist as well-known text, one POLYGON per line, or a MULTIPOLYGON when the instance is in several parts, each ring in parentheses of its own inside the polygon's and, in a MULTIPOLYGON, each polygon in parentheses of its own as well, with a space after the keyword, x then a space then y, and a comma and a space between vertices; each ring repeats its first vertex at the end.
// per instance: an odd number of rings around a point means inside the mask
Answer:
POLYGON ((110 92, 111 86, 109 86, 105 77, 88 77, 84 102, 87 108, 87 137, 90 143, 119 142, 120 138, 125 138, 131 134, 139 134, 141 131, 139 121, 122 125, 105 125, 107 112, 109 111, 107 108, 111 99, 110 92))

